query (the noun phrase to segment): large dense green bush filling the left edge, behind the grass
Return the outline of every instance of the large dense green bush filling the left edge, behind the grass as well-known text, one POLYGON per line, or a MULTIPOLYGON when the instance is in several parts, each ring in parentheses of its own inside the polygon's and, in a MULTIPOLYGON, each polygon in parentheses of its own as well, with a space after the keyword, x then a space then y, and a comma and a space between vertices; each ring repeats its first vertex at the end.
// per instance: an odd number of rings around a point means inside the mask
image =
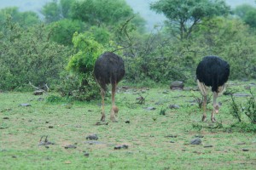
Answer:
POLYGON ((49 41, 49 37, 44 25, 25 30, 10 20, 5 22, 0 37, 1 89, 24 87, 28 82, 54 86, 70 50, 49 41))

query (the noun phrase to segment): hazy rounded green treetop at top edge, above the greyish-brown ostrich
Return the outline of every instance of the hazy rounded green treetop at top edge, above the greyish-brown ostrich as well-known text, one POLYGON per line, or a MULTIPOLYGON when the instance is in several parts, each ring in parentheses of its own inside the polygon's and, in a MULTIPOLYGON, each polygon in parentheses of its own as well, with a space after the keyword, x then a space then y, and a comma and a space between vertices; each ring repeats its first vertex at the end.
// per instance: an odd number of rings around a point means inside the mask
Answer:
MULTIPOLYGON (((135 15, 125 0, 84 0, 73 4, 72 18, 91 26, 116 26, 135 15)), ((143 22, 143 20, 141 20, 143 22)))

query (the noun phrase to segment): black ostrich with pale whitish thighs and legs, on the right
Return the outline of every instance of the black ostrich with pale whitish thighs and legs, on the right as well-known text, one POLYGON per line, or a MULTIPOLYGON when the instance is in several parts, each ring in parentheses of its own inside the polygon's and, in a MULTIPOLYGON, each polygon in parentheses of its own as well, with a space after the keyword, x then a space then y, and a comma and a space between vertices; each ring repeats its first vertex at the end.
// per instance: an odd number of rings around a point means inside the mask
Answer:
POLYGON ((213 111, 212 122, 216 122, 214 117, 215 113, 218 113, 219 105, 216 99, 219 94, 222 94, 225 89, 225 82, 228 81, 230 76, 230 65, 220 59, 217 56, 204 57, 196 68, 196 78, 198 88, 203 95, 203 116, 202 121, 206 121, 206 105, 207 105, 207 91, 209 87, 212 87, 213 94, 213 111))

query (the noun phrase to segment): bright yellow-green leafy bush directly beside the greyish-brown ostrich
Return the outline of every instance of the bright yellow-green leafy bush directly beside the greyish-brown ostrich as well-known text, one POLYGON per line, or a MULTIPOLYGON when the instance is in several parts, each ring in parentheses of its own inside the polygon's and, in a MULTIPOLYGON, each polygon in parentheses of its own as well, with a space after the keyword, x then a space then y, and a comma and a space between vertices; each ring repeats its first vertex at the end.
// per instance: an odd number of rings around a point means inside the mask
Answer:
POLYGON ((67 65, 67 71, 72 71, 79 80, 79 90, 73 89, 73 96, 81 100, 94 99, 99 91, 93 77, 93 69, 96 59, 105 49, 88 32, 83 34, 76 32, 73 35, 73 45, 78 52, 73 54, 67 65))

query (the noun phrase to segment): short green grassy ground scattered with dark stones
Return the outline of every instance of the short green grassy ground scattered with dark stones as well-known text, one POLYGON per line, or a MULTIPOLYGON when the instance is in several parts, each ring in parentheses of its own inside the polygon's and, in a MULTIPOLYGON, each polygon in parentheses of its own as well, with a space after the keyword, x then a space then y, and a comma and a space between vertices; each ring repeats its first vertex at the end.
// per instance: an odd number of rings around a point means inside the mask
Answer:
MULTIPOLYGON (((96 126, 101 117, 100 100, 48 102, 55 94, 1 93, 0 169, 256 168, 256 134, 231 128, 237 120, 230 115, 229 95, 218 98, 223 105, 216 116, 218 123, 212 123, 212 105, 207 106, 207 122, 201 122, 202 111, 194 97, 201 96, 198 91, 122 86, 116 95, 119 122, 109 122, 108 96, 108 125, 100 126, 96 126), (143 105, 136 104, 140 96, 145 99, 143 105), (25 103, 31 106, 20 106, 25 103), (85 139, 90 134, 99 139, 85 139), (47 135, 54 144, 40 144, 47 135), (196 137, 202 143, 190 144, 196 137), (66 149, 70 144, 75 148, 66 149), (120 144, 128 149, 114 150, 120 144)), ((228 89, 249 94, 247 86, 255 94, 255 81, 229 82, 228 89)), ((246 100, 236 97, 239 104, 246 100)))

